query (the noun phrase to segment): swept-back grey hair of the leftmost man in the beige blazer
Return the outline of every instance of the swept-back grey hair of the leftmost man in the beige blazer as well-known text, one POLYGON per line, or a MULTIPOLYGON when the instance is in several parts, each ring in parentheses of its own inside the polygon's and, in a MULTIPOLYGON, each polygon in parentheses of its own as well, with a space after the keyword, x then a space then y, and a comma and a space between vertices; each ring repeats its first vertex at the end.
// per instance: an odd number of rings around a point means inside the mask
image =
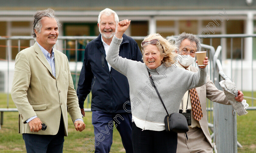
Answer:
POLYGON ((33 16, 33 18, 34 18, 34 22, 33 22, 33 32, 32 32, 31 35, 32 35, 34 38, 37 37, 37 35, 36 35, 36 33, 35 33, 35 29, 36 29, 36 31, 37 31, 38 33, 41 32, 41 28, 42 28, 42 26, 43 26, 41 21, 42 21, 42 19, 43 19, 44 17, 54 18, 54 19, 56 20, 56 22, 57 22, 58 27, 61 26, 61 24, 60 24, 60 22, 59 22, 59 19, 58 19, 57 16, 55 15, 55 12, 54 12, 53 9, 48 8, 47 10, 39 10, 39 11, 37 11, 37 12, 34 14, 34 16, 33 16))

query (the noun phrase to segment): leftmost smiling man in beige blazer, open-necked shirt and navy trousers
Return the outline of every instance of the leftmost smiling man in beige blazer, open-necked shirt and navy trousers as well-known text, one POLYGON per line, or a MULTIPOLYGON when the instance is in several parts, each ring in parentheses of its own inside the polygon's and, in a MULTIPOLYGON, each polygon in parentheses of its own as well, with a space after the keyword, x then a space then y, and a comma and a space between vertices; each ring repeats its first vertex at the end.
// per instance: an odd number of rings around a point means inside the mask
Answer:
POLYGON ((68 59, 52 48, 59 26, 52 9, 37 11, 32 33, 37 42, 15 60, 11 94, 28 153, 62 152, 68 135, 67 112, 77 131, 85 128, 68 59), (41 123, 47 125, 45 131, 41 123))

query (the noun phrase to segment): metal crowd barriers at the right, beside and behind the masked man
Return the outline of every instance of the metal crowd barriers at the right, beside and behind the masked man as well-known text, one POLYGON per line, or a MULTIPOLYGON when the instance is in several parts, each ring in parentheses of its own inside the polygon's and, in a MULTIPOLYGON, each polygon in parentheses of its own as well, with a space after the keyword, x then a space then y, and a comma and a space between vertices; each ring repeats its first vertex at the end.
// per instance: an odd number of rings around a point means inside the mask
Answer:
MULTIPOLYGON (((244 57, 243 57, 243 51, 244 51, 244 41, 246 41, 246 38, 255 38, 256 35, 244 35, 244 34, 238 34, 238 35, 208 35, 207 39, 210 39, 210 45, 201 45, 201 49, 204 51, 209 51, 208 52, 208 57, 209 57, 209 66, 208 68, 208 73, 209 73, 209 69, 210 69, 210 78, 211 80, 215 83, 215 86, 219 89, 222 90, 222 88, 219 85, 219 82, 221 80, 231 80, 232 78, 232 63, 233 63, 233 39, 234 38, 240 38, 241 40, 241 48, 240 48, 240 52, 241 52, 241 88, 239 90, 243 90, 243 62, 244 62, 244 57), (219 46, 216 49, 213 48, 212 44, 213 44, 213 40, 215 38, 220 38, 220 43, 219 46), (223 45, 223 41, 226 41, 226 38, 230 39, 230 60, 231 60, 231 78, 229 78, 223 71, 222 69, 222 58, 221 58, 221 45, 223 45)), ((200 37, 202 38, 202 37, 200 37)), ((206 38, 205 38, 206 39, 206 38)), ((204 39, 204 40, 205 40, 204 39)), ((172 40, 175 40, 175 38, 172 38, 172 40)), ((252 39, 253 40, 253 39, 252 39)), ((215 40, 214 40, 215 41, 215 40)), ((216 43, 216 42, 215 42, 216 43)), ((227 43, 227 42, 225 42, 227 43)), ((251 44, 253 45, 253 43, 251 44)), ((223 45, 225 46, 225 45, 223 45)), ((247 48, 250 49, 251 47, 251 51, 252 51, 252 56, 251 56, 251 97, 249 96, 244 96, 244 98, 250 98, 251 99, 251 104, 252 106, 247 108, 247 110, 256 110, 256 107, 254 107, 254 100, 256 98, 253 97, 253 71, 254 71, 254 66, 255 66, 255 56, 253 53, 253 46, 247 46, 247 48)), ((226 49, 227 51, 227 49, 226 49)), ((235 59, 237 60, 237 59, 235 59)), ((248 60, 248 59, 247 59, 248 60)), ((246 61, 245 61, 246 62, 246 61)), ((247 66, 247 65, 246 65, 247 66)), ((238 74, 236 74, 238 75, 238 74)), ((231 80, 233 81, 233 79, 231 80)), ((236 82, 235 82, 236 83, 236 82)), ((213 104, 214 107, 212 107, 212 101, 207 102, 207 111, 210 112, 210 119, 209 116, 208 117, 208 126, 210 128, 210 130, 213 132, 213 134, 211 135, 211 137, 214 139, 213 142, 213 146, 214 146, 214 150, 215 153, 219 152, 229 152, 229 153, 237 153, 237 146, 238 147, 242 147, 242 145, 240 145, 240 143, 237 141, 237 129, 236 129, 236 112, 233 109, 232 106, 230 105, 222 105, 219 103, 214 103, 213 104), (208 106, 210 105, 210 107, 208 106), (214 108, 214 109, 213 109, 214 108), (212 113, 212 111, 214 111, 214 113, 212 113), (214 122, 212 122, 212 114, 213 118, 214 118, 214 122), (213 123, 213 124, 212 124, 213 123)))

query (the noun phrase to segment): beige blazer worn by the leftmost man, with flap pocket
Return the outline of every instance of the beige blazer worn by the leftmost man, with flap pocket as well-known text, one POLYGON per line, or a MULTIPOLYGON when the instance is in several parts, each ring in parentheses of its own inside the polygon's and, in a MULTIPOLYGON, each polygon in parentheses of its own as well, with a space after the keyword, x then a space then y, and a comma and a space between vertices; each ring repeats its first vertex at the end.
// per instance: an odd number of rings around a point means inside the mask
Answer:
POLYGON ((56 135, 62 113, 67 136, 67 112, 73 121, 82 118, 68 59, 53 50, 56 78, 37 43, 16 56, 11 95, 19 111, 19 133, 56 135), (45 131, 30 131, 26 120, 36 115, 47 125, 45 131))

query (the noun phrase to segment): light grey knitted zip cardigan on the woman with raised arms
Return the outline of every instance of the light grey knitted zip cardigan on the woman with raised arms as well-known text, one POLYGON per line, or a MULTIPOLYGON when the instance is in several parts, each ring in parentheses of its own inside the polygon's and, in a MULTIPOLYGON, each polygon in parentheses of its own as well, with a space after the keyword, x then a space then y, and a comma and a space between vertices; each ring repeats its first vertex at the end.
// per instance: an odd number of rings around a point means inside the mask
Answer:
MULTIPOLYGON (((199 71, 194 73, 175 65, 166 67, 164 64, 156 69, 149 69, 145 63, 119 56, 119 46, 122 40, 123 38, 113 37, 106 59, 112 68, 128 79, 131 112, 133 119, 136 118, 134 122, 137 127, 143 130, 162 131, 165 129, 164 118, 167 114, 154 87, 151 85, 148 71, 157 86, 168 113, 171 114, 179 111, 180 101, 187 90, 200 87, 206 83, 207 69, 199 68, 199 71)), ((125 105, 124 109, 126 109, 125 105)))

